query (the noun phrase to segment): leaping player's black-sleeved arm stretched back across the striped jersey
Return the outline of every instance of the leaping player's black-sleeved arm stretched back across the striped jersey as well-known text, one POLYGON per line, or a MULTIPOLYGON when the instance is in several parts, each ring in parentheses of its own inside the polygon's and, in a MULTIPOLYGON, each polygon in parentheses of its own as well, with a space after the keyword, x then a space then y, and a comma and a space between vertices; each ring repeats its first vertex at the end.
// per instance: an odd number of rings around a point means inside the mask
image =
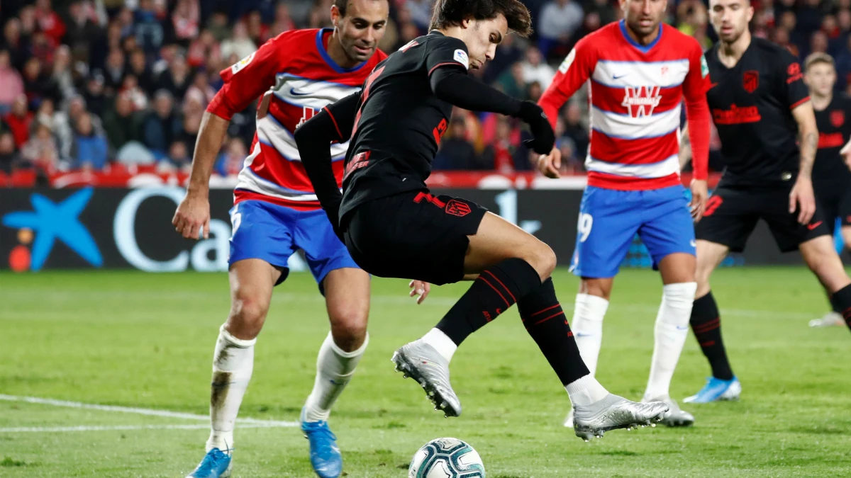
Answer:
POLYGON ((316 192, 319 203, 328 214, 338 236, 338 212, 343 195, 340 194, 334 168, 331 167, 330 145, 332 141, 345 142, 351 137, 360 98, 360 93, 352 94, 333 105, 328 105, 296 129, 294 134, 301 163, 305 167, 307 177, 311 179, 313 191, 316 192))

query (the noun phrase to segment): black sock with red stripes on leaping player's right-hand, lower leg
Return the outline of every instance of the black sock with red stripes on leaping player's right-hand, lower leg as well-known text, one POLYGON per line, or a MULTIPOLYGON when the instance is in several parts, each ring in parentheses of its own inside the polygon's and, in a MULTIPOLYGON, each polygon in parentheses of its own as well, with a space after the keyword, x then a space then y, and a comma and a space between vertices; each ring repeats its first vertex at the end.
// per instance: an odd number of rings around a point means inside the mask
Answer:
POLYGON ((570 332, 568 318, 558 304, 552 279, 545 280, 540 287, 520 299, 517 309, 526 331, 538 344, 563 385, 590 373, 585 361, 582 361, 574 333, 570 332))

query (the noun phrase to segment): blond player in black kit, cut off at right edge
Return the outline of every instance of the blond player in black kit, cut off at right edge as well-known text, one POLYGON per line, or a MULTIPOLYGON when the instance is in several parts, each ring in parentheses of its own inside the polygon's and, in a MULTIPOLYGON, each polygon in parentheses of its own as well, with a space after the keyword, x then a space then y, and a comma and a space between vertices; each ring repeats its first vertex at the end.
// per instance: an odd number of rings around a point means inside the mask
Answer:
MULTIPOLYGON (((813 189, 825 218, 825 224, 836 233, 837 221, 842 226, 845 248, 851 247, 851 98, 833 94, 837 70, 830 55, 814 53, 804 60, 804 79, 813 100, 815 123, 819 128, 819 151, 815 153, 813 189), (843 151, 844 150, 844 151, 843 151)), ((831 312, 809 322, 810 327, 842 326, 842 310, 831 301, 831 312)))

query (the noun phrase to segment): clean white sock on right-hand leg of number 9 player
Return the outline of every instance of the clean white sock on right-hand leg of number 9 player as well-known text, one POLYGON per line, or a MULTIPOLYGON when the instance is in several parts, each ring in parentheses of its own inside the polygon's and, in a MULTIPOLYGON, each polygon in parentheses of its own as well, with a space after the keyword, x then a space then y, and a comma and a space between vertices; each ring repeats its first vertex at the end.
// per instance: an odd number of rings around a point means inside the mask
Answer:
POLYGON ((688 336, 688 321, 691 318, 697 282, 668 284, 663 288, 662 304, 656 316, 655 345, 650 378, 644 398, 655 399, 670 395, 671 378, 683 345, 688 336))

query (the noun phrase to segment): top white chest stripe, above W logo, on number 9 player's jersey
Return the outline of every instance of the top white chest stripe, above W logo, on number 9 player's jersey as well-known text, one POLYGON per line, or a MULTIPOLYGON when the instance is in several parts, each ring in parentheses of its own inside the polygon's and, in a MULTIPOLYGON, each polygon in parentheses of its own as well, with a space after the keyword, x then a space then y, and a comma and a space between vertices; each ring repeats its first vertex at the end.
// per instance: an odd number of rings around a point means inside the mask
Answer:
POLYGON ((597 60, 591 78, 610 88, 671 88, 683 84, 687 73, 688 59, 654 62, 597 60))

